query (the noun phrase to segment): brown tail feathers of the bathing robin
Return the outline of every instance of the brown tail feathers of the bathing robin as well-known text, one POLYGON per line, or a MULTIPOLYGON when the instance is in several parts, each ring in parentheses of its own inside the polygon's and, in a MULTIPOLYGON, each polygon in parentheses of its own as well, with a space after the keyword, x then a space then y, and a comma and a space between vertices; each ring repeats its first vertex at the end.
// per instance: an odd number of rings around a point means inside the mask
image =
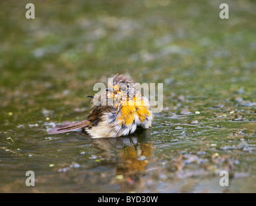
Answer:
POLYGON ((56 126, 48 131, 49 134, 59 134, 67 133, 69 131, 74 131, 75 129, 81 129, 83 127, 88 127, 91 124, 89 120, 83 120, 81 122, 75 122, 70 124, 65 124, 61 126, 56 126))

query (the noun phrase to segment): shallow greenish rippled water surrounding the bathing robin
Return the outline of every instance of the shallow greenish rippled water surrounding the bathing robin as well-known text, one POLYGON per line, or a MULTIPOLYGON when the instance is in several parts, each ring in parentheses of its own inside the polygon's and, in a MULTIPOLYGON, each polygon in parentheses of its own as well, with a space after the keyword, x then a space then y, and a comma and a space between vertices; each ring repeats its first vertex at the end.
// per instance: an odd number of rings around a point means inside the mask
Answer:
POLYGON ((256 192, 255 3, 77 2, 0 3, 0 192, 256 192), (48 135, 116 73, 164 83, 151 129, 48 135))

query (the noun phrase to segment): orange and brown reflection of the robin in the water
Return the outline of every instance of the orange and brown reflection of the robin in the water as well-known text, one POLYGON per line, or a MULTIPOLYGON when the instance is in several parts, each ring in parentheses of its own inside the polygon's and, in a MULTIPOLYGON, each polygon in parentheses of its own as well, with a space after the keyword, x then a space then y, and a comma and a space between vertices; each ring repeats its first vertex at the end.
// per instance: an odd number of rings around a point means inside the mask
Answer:
POLYGON ((103 163, 105 167, 114 167, 114 183, 120 184, 123 191, 144 186, 142 176, 153 151, 151 129, 138 129, 130 136, 92 139, 92 147, 99 149, 101 157, 108 160, 107 165, 103 163))

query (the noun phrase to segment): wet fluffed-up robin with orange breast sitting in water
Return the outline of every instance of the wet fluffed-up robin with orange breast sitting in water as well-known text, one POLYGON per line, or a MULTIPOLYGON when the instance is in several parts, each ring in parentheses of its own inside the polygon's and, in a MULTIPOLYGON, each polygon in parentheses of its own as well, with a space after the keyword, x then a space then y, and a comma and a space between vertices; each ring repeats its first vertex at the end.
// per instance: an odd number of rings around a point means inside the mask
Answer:
POLYGON ((153 113, 149 100, 133 80, 116 74, 112 84, 100 95, 91 97, 94 104, 87 120, 56 126, 48 133, 58 134, 85 129, 92 138, 118 137, 133 134, 137 127, 151 127, 153 113))

